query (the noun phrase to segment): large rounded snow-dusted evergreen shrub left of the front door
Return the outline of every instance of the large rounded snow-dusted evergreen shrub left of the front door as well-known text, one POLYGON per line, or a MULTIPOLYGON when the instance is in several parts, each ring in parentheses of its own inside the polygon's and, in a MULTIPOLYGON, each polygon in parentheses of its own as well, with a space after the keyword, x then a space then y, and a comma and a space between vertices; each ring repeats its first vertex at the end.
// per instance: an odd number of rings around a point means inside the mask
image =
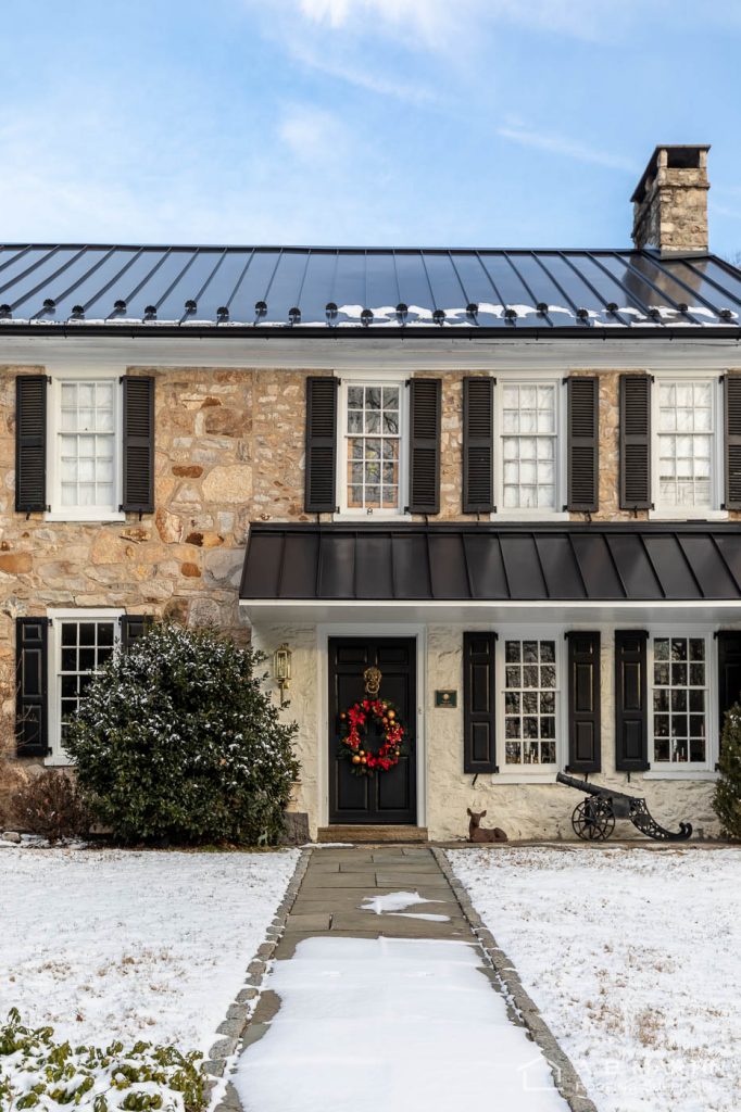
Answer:
POLYGON ((93 677, 66 748, 93 815, 127 842, 275 842, 298 773, 256 675, 210 628, 156 624, 93 677))

